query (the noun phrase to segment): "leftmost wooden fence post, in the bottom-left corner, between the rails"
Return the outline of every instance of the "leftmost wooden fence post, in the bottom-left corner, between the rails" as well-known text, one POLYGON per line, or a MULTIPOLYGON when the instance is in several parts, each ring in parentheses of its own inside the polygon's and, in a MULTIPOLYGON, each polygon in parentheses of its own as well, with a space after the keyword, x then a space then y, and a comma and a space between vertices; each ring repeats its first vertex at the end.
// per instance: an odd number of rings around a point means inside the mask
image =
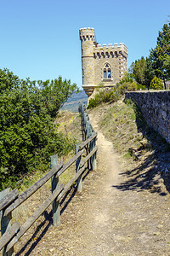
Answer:
MULTIPOLYGON (((10 188, 4 189, 0 192, 0 200, 3 199, 5 195, 8 195, 10 188)), ((7 216, 3 216, 3 211, 0 212, 1 218, 1 234, 3 234, 12 226, 12 212, 9 212, 7 216)), ((14 247, 12 247, 8 252, 6 252, 6 246, 3 248, 3 256, 14 256, 14 247)))

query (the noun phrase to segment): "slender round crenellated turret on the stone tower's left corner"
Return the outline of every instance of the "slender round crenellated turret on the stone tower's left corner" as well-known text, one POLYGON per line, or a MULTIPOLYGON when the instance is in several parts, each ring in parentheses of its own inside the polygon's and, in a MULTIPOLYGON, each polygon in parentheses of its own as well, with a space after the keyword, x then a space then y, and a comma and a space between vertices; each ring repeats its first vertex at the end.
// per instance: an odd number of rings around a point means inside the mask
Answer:
POLYGON ((82 88, 90 96, 94 91, 94 28, 80 29, 82 43, 82 88))

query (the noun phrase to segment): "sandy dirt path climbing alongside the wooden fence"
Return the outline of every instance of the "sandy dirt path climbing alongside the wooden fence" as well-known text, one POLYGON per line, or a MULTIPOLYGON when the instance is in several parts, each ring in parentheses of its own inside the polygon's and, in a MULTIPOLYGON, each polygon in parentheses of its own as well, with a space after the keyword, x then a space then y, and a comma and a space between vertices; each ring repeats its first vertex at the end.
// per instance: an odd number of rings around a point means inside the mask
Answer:
POLYGON ((62 212, 59 228, 45 222, 36 247, 18 255, 170 255, 169 195, 130 189, 120 156, 99 131, 97 116, 89 116, 98 131, 97 170, 62 212))

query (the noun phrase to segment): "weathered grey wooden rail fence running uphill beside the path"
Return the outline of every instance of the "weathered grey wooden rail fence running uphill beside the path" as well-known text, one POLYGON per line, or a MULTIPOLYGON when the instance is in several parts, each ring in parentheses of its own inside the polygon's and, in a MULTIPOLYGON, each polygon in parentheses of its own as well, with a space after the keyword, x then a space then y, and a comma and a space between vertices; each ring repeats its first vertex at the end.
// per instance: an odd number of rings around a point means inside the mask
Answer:
POLYGON ((96 138, 97 133, 93 131, 92 125, 88 120, 88 114, 82 103, 79 104, 79 112, 82 120, 82 143, 76 145, 76 154, 67 161, 65 165, 63 162, 58 163, 57 155, 51 157, 51 171, 44 175, 37 183, 34 183, 29 189, 19 195, 17 189, 10 192, 10 189, 5 189, 0 192, 0 212, 1 212, 1 232, 0 251, 3 249, 3 255, 14 255, 14 244, 19 241, 20 237, 26 233, 32 224, 35 223, 48 206, 53 203, 53 224, 58 226, 60 224, 59 201, 65 193, 71 189, 73 183, 77 181, 78 191, 82 190, 82 174, 86 169, 94 170, 96 168, 96 138), (87 155, 82 158, 82 154, 87 155), (76 162, 76 174, 64 186, 59 183, 59 176, 65 172, 73 163, 76 162), (88 162, 88 167, 85 164, 88 162), (40 189, 44 183, 51 178, 52 194, 46 201, 34 212, 26 223, 20 226, 18 222, 12 224, 12 212, 19 207, 26 199, 33 195, 37 189, 40 189))

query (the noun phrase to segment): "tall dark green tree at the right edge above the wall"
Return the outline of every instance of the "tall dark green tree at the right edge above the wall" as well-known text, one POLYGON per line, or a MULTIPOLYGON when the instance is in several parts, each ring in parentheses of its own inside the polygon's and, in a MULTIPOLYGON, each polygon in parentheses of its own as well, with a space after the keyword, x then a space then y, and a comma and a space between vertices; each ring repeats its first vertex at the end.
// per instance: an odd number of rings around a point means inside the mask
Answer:
POLYGON ((164 65, 167 55, 170 55, 170 23, 164 24, 162 31, 159 32, 156 48, 150 50, 152 67, 155 69, 156 77, 163 80, 165 89, 165 81, 170 78, 167 66, 164 65))

